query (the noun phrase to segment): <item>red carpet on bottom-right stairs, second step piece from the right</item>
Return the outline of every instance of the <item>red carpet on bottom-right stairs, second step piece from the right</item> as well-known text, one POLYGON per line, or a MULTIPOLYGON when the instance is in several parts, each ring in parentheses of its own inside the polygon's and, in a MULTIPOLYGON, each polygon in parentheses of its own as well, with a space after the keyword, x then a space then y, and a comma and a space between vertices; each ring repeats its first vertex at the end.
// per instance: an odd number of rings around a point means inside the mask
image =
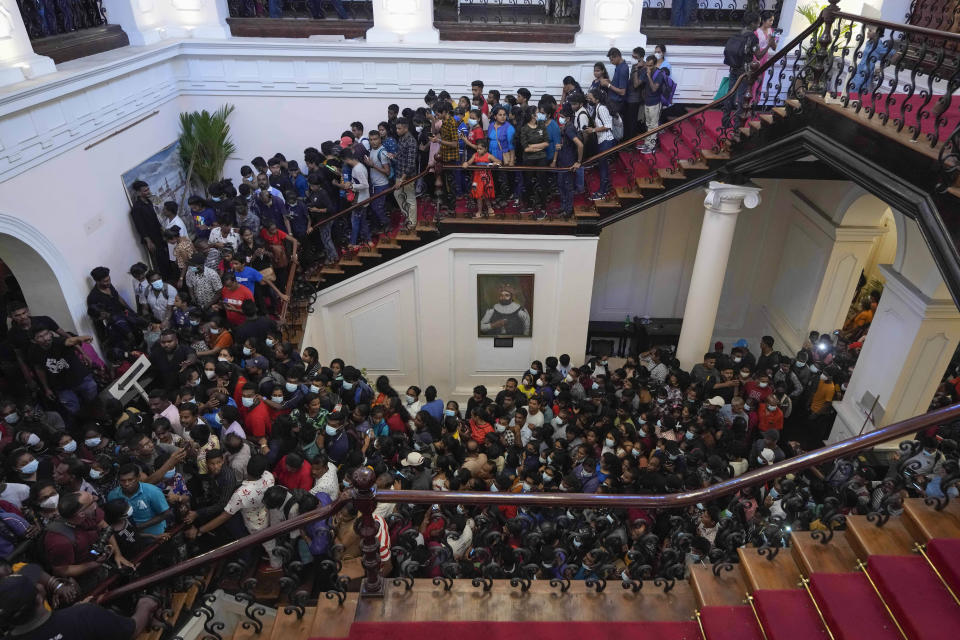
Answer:
POLYGON ((919 556, 870 556, 867 570, 908 638, 956 640, 960 607, 919 556))

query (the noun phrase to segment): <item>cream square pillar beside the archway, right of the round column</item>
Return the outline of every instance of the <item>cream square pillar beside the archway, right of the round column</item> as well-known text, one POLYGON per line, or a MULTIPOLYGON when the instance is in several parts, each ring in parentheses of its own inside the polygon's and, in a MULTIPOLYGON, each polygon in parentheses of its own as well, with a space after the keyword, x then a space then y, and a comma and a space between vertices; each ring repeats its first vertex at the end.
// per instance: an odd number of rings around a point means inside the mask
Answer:
POLYGON ((829 332, 843 327, 860 272, 870 259, 883 227, 836 227, 823 282, 817 293, 807 331, 829 332))

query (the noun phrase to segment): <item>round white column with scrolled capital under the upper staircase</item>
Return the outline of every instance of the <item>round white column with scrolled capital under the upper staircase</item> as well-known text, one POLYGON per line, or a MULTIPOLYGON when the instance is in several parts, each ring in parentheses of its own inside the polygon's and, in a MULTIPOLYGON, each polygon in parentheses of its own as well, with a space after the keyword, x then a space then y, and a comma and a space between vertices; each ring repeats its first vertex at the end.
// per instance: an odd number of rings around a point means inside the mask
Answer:
POLYGON ((710 350, 737 214, 743 206, 753 209, 760 204, 758 187, 711 182, 706 191, 700 243, 677 345, 677 359, 686 369, 702 362, 703 354, 710 350))

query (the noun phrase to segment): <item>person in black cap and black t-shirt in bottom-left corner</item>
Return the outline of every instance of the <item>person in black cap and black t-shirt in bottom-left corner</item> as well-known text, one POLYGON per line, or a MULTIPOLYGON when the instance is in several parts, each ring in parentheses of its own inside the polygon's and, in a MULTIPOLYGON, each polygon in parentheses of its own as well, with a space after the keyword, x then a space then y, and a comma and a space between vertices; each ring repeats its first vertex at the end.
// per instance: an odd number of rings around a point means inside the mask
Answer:
POLYGON ((16 640, 132 640, 158 606, 142 597, 129 618, 87 602, 50 611, 34 581, 20 574, 0 580, 0 603, 0 624, 16 640))

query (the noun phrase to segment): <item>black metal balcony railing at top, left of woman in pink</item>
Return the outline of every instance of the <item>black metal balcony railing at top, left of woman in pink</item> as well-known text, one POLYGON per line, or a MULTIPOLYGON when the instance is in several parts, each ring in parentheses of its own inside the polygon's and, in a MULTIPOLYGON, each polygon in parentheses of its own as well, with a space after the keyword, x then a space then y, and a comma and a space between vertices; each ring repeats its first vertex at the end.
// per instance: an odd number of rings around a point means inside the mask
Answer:
POLYGON ((783 0, 643 0, 643 24, 653 27, 740 29, 749 11, 774 12, 780 22, 783 0))

